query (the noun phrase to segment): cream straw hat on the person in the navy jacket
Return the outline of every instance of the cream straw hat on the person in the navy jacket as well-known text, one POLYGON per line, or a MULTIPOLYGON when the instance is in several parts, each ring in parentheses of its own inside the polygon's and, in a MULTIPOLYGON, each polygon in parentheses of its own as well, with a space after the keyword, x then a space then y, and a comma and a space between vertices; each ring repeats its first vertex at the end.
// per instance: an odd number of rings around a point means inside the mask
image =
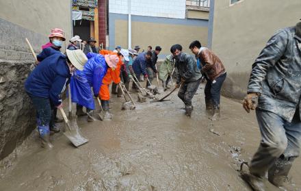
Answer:
POLYGON ((88 61, 88 58, 83 53, 83 51, 81 51, 79 49, 70 51, 67 49, 66 53, 67 53, 68 59, 70 60, 71 64, 73 64, 73 66, 75 66, 75 68, 77 68, 79 71, 83 71, 83 66, 88 61))

